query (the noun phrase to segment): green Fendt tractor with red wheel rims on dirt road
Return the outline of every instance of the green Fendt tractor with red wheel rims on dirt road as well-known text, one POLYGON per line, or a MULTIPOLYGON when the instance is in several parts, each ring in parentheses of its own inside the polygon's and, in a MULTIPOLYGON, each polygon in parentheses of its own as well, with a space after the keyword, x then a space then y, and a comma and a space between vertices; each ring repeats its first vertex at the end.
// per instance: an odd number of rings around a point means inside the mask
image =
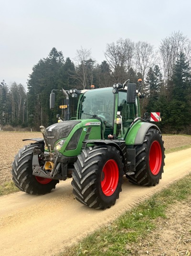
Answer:
MULTIPOLYGON (((45 194, 59 180, 72 177, 75 198, 95 209, 110 208, 119 198, 123 176, 134 184, 155 186, 164 167, 159 128, 140 117, 136 84, 116 83, 94 90, 64 91, 65 119, 40 127, 43 139, 24 146, 12 164, 12 179, 21 191, 45 194), (70 120, 69 99, 77 97, 70 120)), ((60 91, 60 90, 59 90, 60 91)), ((53 108, 55 93, 51 93, 53 108)))

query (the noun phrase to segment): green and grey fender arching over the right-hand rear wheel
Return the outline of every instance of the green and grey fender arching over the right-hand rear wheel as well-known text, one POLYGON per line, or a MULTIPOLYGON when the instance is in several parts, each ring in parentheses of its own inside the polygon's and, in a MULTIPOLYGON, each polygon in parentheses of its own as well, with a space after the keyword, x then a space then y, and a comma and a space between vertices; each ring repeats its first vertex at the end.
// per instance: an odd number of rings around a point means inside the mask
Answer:
POLYGON ((143 143, 145 135, 149 128, 155 128, 159 130, 158 126, 149 122, 136 122, 130 131, 127 133, 126 143, 127 145, 140 145, 143 143))

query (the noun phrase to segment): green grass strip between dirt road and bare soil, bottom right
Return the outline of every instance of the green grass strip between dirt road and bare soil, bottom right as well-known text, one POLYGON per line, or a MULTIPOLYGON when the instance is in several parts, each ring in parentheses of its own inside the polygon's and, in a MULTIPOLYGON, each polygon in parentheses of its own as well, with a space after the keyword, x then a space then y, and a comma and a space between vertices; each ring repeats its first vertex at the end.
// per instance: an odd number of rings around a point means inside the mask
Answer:
POLYGON ((75 246, 68 247, 58 256, 122 256, 132 255, 130 244, 146 238, 155 229, 157 218, 166 218, 165 210, 177 201, 189 200, 191 174, 169 188, 127 211, 110 225, 88 235, 75 246))

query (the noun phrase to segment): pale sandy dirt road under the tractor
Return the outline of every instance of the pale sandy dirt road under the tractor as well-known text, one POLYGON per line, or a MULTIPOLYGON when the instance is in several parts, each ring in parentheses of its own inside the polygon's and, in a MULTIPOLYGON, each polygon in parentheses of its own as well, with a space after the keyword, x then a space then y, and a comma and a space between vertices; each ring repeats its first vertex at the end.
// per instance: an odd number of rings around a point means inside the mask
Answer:
POLYGON ((191 149, 166 155, 158 186, 139 187, 124 177, 120 198, 111 209, 89 209, 76 200, 71 180, 43 196, 18 192, 0 198, 0 255, 53 255, 126 209, 191 172, 191 149))

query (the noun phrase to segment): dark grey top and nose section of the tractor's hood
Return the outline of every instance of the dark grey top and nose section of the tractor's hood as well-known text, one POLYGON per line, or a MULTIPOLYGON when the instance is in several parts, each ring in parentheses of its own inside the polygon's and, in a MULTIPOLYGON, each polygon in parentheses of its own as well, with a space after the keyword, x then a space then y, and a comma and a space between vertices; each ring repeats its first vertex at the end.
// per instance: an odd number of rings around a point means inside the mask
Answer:
POLYGON ((57 140, 67 138, 74 126, 80 122, 81 121, 77 120, 64 121, 47 127, 44 135, 48 144, 51 145, 51 150, 53 150, 54 144, 57 140))

